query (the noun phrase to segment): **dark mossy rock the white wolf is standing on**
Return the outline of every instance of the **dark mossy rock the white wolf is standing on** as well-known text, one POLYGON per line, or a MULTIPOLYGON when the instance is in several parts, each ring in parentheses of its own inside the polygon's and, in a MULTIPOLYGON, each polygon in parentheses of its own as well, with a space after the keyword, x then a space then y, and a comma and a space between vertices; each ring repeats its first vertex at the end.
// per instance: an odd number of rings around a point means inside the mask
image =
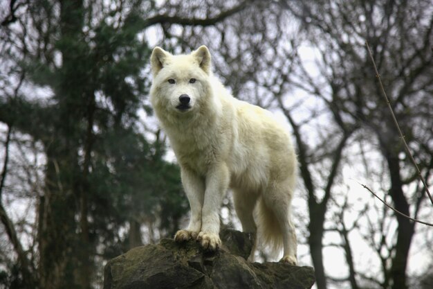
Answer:
POLYGON ((234 230, 221 231, 223 247, 203 252, 191 240, 172 239, 158 245, 136 247, 107 263, 104 289, 309 289, 313 268, 286 263, 250 263, 252 236, 234 230))

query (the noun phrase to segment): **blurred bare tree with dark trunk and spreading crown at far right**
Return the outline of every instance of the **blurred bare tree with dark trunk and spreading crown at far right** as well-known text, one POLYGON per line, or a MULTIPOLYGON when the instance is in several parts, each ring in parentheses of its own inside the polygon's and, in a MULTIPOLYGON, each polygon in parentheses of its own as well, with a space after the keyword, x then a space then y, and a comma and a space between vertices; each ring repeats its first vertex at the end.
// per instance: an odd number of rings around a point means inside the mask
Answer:
MULTIPOLYGON (((419 186, 416 171, 400 142, 364 43, 367 40, 374 47, 378 70, 405 139, 428 177, 433 152, 431 1, 284 3, 302 21, 310 45, 319 55, 320 76, 313 79, 306 69, 300 70, 302 86, 329 104, 329 110, 341 116, 340 121, 359 123, 366 137, 374 136, 387 164, 383 182, 389 182, 394 207, 416 218, 425 190, 419 186)), ((394 218, 398 224, 396 238, 383 266, 383 281, 378 283, 383 288, 407 288, 407 257, 415 224, 397 214, 394 218)), ((383 234, 383 238, 389 236, 388 232, 383 234)), ((318 288, 326 288, 320 280, 317 284, 322 284, 318 288)))

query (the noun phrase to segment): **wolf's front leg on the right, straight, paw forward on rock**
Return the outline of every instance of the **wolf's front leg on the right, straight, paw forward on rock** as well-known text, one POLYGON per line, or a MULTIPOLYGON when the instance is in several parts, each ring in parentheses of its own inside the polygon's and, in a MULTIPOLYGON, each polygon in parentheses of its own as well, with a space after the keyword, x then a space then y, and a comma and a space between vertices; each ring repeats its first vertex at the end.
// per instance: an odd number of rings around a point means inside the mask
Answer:
POLYGON ((214 164, 206 174, 201 232, 197 238, 204 249, 214 251, 221 246, 219 238, 219 209, 228 189, 230 175, 223 163, 214 164))

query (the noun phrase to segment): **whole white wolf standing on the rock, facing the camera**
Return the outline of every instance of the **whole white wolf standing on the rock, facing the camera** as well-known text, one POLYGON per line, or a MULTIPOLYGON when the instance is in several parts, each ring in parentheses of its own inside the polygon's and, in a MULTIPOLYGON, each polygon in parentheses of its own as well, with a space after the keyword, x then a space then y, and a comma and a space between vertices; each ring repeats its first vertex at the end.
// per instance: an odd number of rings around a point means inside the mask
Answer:
POLYGON ((275 249, 284 246, 282 261, 296 264, 290 207, 297 159, 288 132, 270 112, 229 94, 212 76, 206 46, 190 55, 156 47, 151 71, 151 105, 181 166, 191 207, 190 225, 175 240, 219 248, 219 209, 230 188, 243 231, 255 237, 258 231, 275 249))

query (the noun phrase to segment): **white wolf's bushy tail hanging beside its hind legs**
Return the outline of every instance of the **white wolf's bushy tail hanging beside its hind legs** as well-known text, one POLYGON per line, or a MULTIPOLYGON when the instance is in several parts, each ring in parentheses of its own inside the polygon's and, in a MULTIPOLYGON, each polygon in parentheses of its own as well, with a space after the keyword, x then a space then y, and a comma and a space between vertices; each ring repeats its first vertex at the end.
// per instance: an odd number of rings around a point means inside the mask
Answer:
POLYGON ((259 198, 255 210, 257 222, 257 238, 266 245, 273 256, 278 256, 283 247, 283 232, 275 213, 268 207, 262 197, 259 198))

